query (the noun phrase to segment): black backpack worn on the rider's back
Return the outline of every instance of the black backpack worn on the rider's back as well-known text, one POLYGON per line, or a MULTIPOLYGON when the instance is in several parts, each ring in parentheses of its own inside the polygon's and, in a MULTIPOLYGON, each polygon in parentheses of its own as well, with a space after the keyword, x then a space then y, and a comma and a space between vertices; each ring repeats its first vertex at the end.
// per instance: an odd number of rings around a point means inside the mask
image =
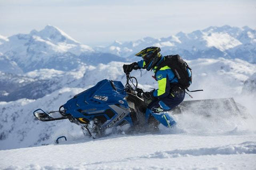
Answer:
POLYGON ((188 87, 192 83, 192 71, 188 64, 181 58, 181 56, 179 56, 178 54, 165 56, 165 60, 157 66, 155 73, 166 65, 171 68, 175 76, 178 78, 179 87, 188 90, 188 87))

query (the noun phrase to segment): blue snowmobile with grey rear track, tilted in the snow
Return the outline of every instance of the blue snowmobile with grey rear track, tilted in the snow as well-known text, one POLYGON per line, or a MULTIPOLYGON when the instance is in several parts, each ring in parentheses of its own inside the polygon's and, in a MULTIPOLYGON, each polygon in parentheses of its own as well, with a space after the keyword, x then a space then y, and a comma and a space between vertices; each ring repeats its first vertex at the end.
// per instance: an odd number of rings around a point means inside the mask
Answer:
MULTIPOLYGON (((145 113, 150 101, 143 99, 143 90, 138 81, 126 74, 126 84, 120 81, 102 80, 94 87, 69 99, 59 111, 44 112, 41 108, 33 112, 40 121, 68 119, 81 126, 85 135, 101 137, 107 129, 128 127, 131 132, 157 132, 162 123, 167 127, 175 125, 175 114, 200 114, 210 117, 214 114, 238 115, 248 118, 246 108, 233 98, 187 100, 162 116, 150 115, 146 122, 145 113)), ((120 129, 120 128, 119 128, 120 129)))

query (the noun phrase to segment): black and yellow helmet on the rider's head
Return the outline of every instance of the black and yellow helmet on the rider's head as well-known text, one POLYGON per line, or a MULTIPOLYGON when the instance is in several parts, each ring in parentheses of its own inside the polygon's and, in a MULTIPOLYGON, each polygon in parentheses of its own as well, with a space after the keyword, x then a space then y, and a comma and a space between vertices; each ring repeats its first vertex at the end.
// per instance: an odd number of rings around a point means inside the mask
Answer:
POLYGON ((159 47, 147 47, 141 50, 135 56, 142 57, 145 61, 145 67, 147 71, 152 70, 156 64, 161 60, 162 55, 160 54, 161 49, 159 47))

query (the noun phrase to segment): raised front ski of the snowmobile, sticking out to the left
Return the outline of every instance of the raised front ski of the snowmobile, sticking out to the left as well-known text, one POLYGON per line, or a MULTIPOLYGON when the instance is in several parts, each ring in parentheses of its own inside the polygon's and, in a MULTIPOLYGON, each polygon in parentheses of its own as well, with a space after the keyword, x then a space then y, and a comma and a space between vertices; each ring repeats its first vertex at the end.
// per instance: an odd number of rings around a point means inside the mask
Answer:
POLYGON ((57 121, 68 118, 65 115, 62 115, 60 111, 51 111, 51 112, 44 112, 41 108, 36 109, 33 112, 34 116, 39 120, 43 122, 47 121, 57 121), (41 111, 41 112, 38 112, 41 111))

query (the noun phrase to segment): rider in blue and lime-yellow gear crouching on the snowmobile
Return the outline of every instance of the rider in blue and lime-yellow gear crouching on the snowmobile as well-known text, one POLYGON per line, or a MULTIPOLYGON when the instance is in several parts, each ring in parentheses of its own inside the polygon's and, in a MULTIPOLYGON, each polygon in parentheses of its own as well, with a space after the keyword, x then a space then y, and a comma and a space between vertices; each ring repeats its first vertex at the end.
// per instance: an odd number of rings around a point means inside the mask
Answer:
POLYGON ((159 47, 147 47, 135 54, 135 56, 142 57, 141 61, 124 64, 123 69, 126 74, 137 69, 154 71, 158 89, 143 93, 143 98, 150 102, 146 110, 146 121, 150 122, 154 116, 165 126, 171 127, 175 125, 173 118, 169 114, 163 115, 161 113, 178 106, 185 98, 185 89, 178 86, 178 78, 175 77, 169 66, 166 65, 157 69, 157 66, 165 61, 165 56, 162 56, 160 51, 159 47))

